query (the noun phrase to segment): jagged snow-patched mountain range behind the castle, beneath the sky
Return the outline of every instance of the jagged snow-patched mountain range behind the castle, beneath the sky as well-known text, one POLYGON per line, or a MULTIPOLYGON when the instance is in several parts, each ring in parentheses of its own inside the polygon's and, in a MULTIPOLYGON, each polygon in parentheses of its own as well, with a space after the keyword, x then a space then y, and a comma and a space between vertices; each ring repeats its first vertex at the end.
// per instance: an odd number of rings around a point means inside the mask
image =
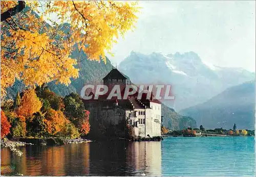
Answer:
POLYGON ((164 104, 177 111, 203 103, 226 88, 255 77, 255 73, 242 68, 208 66, 194 52, 169 55, 131 52, 118 68, 135 84, 171 84, 175 101, 164 104))

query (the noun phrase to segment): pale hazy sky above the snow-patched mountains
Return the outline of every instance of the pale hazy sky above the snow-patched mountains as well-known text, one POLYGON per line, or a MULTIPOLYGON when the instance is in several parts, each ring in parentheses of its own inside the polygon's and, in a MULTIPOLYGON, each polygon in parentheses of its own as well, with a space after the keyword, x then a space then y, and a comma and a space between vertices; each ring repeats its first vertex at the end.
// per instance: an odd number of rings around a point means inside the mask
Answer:
POLYGON ((113 63, 131 51, 196 52, 207 63, 255 71, 255 2, 141 1, 134 32, 114 45, 113 63))

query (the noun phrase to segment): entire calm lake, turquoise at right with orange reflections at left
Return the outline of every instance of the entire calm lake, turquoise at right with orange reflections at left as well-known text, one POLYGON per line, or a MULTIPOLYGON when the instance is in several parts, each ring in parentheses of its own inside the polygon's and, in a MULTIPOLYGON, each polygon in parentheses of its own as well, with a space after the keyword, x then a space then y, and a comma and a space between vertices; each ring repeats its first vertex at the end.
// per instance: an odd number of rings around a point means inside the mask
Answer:
POLYGON ((167 137, 2 149, 2 166, 24 175, 255 176, 254 137, 167 137))

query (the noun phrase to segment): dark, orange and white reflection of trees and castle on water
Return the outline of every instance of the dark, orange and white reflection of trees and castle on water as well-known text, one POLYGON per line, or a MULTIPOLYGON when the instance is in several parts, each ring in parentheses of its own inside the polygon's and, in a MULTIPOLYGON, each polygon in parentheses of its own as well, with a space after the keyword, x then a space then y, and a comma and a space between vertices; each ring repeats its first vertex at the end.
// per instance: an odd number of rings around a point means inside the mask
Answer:
MULTIPOLYGON (((161 175, 161 142, 93 142, 2 149, 2 166, 24 175, 161 175)), ((8 174, 10 170, 2 171, 8 174)))

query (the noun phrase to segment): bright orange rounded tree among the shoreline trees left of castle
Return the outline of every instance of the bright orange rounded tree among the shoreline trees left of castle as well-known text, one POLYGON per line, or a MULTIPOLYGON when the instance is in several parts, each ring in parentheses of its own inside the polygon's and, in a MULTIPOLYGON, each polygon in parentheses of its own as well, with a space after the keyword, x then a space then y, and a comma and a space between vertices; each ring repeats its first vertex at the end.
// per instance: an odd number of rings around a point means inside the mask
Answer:
POLYGON ((20 101, 20 106, 17 108, 17 114, 31 117, 33 113, 38 112, 42 107, 39 98, 36 96, 35 90, 25 90, 20 101))

